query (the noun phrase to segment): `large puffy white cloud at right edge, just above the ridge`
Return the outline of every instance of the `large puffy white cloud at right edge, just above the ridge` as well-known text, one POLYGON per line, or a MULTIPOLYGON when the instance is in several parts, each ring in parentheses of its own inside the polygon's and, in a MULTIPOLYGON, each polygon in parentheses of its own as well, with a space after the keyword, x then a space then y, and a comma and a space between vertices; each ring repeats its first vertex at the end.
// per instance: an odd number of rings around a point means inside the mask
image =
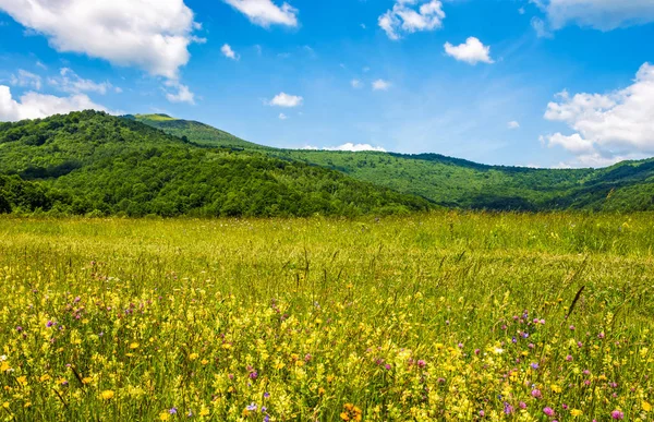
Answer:
POLYGON ((632 85, 608 94, 557 94, 545 119, 566 123, 571 135, 544 136, 584 159, 606 162, 654 154, 654 65, 644 63, 632 85))

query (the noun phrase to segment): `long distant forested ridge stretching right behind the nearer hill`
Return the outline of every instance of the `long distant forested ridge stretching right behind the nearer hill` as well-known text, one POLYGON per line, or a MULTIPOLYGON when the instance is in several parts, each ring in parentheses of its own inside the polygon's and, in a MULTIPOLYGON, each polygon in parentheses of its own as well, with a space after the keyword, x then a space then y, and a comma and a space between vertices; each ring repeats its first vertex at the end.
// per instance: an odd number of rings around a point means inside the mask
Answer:
MULTIPOLYGON (((225 133, 203 125, 204 136, 199 138, 193 131, 172 131, 157 125, 153 119, 142 121, 168 133, 186 136, 190 141, 214 145, 220 145, 220 134, 225 133)), ((183 121, 174 121, 178 128, 183 126, 183 121)), ((654 209, 652 159, 626 161, 605 169, 533 169, 486 166, 438 154, 293 150, 251 143, 241 145, 270 157, 338 170, 361 181, 420 195, 445 207, 494 210, 654 209)))

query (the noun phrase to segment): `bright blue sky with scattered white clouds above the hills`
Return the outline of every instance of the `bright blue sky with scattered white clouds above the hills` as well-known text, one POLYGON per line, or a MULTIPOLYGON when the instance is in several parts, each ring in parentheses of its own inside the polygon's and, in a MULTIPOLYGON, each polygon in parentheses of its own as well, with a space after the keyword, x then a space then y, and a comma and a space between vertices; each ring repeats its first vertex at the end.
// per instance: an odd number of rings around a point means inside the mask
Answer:
POLYGON ((604 167, 654 156, 653 40, 654 0, 0 0, 0 121, 604 167))

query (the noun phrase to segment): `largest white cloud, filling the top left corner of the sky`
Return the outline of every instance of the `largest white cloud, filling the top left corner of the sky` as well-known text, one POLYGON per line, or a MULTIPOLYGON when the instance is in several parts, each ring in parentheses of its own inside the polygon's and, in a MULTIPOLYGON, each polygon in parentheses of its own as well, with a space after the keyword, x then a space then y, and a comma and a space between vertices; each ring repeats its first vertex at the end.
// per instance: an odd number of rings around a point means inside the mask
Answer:
POLYGON ((177 79, 199 39, 183 0, 0 0, 0 10, 45 35, 58 51, 81 52, 177 79))

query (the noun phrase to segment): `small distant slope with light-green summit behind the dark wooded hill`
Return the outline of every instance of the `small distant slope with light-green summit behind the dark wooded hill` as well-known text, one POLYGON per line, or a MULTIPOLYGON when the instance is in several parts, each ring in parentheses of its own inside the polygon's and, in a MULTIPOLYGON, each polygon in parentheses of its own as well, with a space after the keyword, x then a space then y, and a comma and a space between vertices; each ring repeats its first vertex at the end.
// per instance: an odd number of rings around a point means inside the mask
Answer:
POLYGON ((160 129, 164 132, 178 137, 186 136, 189 140, 193 140, 193 142, 202 145, 264 148, 261 145, 243 141, 230 133, 209 126, 208 124, 191 120, 174 119, 167 114, 135 114, 125 116, 125 118, 134 119, 137 122, 160 129))

